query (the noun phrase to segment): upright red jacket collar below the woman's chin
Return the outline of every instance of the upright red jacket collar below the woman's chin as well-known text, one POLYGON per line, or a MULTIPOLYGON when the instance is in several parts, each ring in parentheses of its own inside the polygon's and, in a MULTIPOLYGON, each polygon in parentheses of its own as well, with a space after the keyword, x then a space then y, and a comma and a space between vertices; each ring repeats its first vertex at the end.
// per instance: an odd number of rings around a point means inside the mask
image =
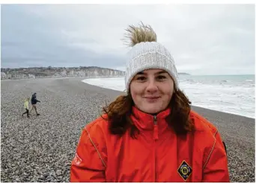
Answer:
POLYGON ((156 125, 158 128, 165 129, 168 127, 165 118, 167 118, 170 112, 171 109, 168 108, 167 110, 159 112, 157 115, 150 115, 138 110, 137 107, 132 107, 132 121, 139 130, 153 130, 155 124, 154 118, 156 118, 156 125))

